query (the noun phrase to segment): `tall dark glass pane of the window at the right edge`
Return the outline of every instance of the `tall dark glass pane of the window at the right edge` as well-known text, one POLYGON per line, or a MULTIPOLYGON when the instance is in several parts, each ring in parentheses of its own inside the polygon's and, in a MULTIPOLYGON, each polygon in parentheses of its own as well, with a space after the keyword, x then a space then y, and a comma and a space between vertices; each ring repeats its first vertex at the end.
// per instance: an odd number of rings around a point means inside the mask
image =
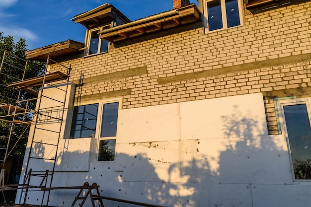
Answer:
POLYGON ((311 179, 311 128, 306 104, 284 106, 296 179, 311 179))

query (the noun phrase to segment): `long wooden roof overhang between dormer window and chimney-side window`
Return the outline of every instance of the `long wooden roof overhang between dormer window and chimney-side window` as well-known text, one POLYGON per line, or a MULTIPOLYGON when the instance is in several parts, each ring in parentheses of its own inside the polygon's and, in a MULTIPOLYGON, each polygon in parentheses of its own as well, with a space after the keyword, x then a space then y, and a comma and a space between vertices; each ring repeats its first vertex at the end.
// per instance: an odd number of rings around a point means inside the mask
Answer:
POLYGON ((195 4, 166 11, 143 19, 132 21, 98 32, 100 38, 118 42, 133 37, 146 35, 180 25, 194 23, 201 18, 201 12, 195 4))

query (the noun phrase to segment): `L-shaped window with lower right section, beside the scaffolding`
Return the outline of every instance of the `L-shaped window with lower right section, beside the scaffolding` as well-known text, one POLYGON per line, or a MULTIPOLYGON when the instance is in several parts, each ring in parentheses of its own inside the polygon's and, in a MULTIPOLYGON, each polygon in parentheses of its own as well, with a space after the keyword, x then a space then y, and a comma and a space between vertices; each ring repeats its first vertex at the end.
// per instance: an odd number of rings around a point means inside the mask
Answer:
POLYGON ((114 161, 118 111, 119 102, 75 106, 70 138, 98 138, 97 161, 114 161))

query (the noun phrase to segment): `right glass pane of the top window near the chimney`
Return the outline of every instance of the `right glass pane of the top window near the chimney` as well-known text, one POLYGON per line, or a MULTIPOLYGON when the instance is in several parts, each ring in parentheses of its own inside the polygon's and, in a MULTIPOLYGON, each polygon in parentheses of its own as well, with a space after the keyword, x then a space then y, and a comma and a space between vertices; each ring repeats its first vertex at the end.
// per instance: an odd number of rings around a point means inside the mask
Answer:
POLYGON ((240 25, 237 0, 226 0, 226 13, 228 27, 240 25))

